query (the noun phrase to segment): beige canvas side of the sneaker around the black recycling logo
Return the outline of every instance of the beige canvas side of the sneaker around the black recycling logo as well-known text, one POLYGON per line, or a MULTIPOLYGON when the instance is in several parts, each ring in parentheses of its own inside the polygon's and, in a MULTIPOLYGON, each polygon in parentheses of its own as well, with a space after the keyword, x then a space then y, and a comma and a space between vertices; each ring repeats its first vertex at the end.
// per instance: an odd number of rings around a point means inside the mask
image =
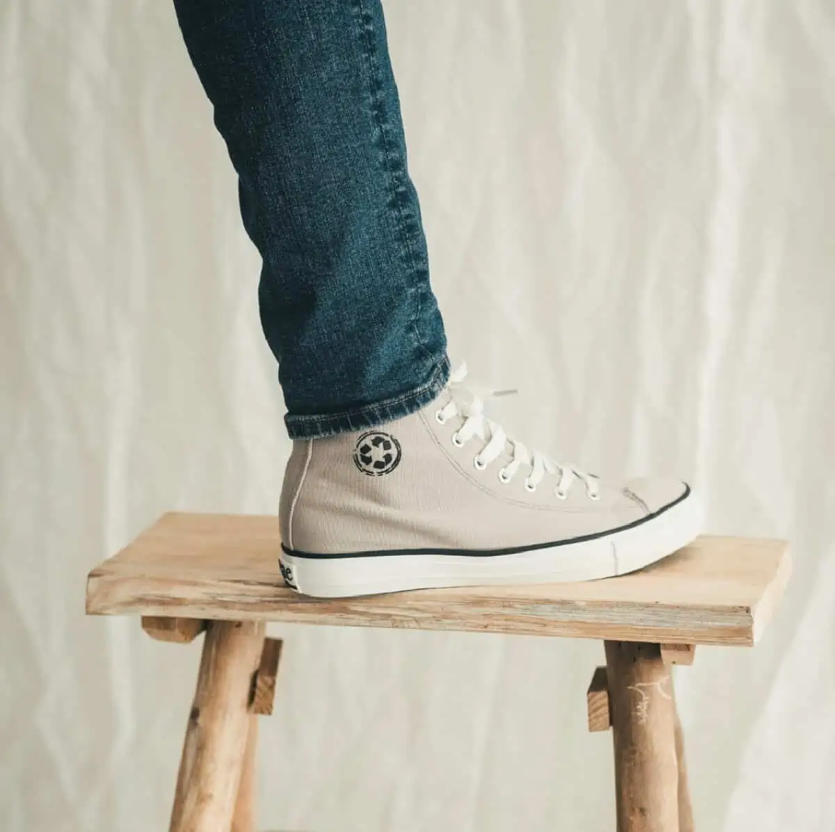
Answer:
POLYGON ((619 490, 590 502, 577 492, 559 502, 553 489, 525 492, 519 476, 498 482, 499 463, 473 467, 479 440, 452 445, 419 412, 384 425, 401 451, 393 470, 362 471, 355 452, 362 433, 299 442, 281 497, 282 539, 311 554, 423 549, 489 550, 553 542, 633 522, 644 511, 619 490))

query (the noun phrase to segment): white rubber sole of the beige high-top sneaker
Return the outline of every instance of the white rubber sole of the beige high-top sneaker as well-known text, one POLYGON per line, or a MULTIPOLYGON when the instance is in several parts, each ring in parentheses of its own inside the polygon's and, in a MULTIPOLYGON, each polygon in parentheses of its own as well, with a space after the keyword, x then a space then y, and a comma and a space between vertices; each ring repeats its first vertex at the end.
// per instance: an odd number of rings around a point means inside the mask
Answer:
POLYGON ((701 502, 681 502, 637 526, 579 542, 504 555, 402 552, 391 555, 302 557, 281 553, 289 587, 313 598, 497 584, 567 583, 615 577, 649 566, 701 532, 701 502))

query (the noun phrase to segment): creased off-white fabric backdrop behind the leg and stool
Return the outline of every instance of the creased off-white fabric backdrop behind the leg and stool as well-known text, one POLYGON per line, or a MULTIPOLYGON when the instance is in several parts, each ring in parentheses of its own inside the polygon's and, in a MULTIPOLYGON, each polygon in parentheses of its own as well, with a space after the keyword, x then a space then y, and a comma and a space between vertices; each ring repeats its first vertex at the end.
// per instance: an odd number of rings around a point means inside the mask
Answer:
MULTIPOLYGON (((679 673, 699 829, 835 829, 831 0, 387 4, 453 354, 516 432, 789 537, 679 673)), ((171 508, 272 512, 258 260, 168 3, 0 5, 0 829, 167 828, 197 649, 83 617, 171 508)), ((280 628, 264 828, 611 829, 596 643, 280 628)))

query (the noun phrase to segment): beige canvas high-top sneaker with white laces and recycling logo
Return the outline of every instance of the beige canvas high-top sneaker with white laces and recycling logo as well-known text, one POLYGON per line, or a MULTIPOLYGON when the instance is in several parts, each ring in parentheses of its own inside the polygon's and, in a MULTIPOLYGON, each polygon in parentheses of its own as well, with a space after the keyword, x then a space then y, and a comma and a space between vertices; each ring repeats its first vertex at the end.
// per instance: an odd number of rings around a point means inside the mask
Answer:
POLYGON ((690 487, 600 482, 509 439, 458 377, 422 411, 296 441, 281 573, 318 598, 585 581, 632 572, 701 531, 690 487))

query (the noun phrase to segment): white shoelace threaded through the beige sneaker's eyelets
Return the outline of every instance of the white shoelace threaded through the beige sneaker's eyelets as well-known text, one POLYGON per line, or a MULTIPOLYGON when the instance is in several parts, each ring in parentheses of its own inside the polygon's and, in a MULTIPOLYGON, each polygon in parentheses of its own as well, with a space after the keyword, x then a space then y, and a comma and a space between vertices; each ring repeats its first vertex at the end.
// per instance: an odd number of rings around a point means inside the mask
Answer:
POLYGON ((487 441, 481 451, 473 459, 473 465, 478 471, 483 471, 488 465, 498 459, 505 447, 511 447, 511 460, 498 471, 499 482, 507 485, 515 476, 519 468, 527 466, 530 472, 525 477, 524 487, 529 492, 536 491, 536 487, 548 474, 559 477, 554 493, 559 499, 568 497, 569 488, 574 482, 584 482, 585 492, 590 500, 600 499, 597 477, 580 471, 579 468, 561 462, 549 460, 539 451, 529 451, 522 442, 509 437, 502 426, 484 416, 484 399, 491 396, 504 396, 515 391, 493 391, 472 385, 465 386, 467 365, 462 364, 449 376, 449 390, 453 394, 452 401, 435 413, 435 419, 443 425, 454 416, 463 416, 463 425, 453 433, 453 445, 462 447, 473 436, 487 441))

